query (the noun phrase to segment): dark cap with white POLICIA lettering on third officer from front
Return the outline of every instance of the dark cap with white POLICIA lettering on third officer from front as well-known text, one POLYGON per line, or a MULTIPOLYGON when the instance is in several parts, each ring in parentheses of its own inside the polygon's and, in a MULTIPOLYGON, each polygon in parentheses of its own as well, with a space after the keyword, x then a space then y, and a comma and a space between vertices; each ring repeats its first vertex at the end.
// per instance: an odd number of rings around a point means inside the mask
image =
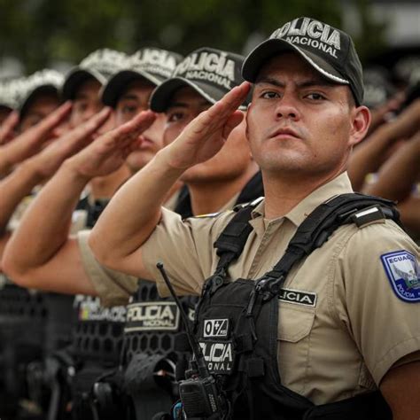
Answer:
POLYGON ((174 73, 175 67, 181 62, 183 56, 172 51, 159 48, 142 48, 127 58, 125 66, 106 83, 102 93, 102 102, 105 105, 117 105, 128 83, 138 79, 145 79, 159 86, 174 73))

